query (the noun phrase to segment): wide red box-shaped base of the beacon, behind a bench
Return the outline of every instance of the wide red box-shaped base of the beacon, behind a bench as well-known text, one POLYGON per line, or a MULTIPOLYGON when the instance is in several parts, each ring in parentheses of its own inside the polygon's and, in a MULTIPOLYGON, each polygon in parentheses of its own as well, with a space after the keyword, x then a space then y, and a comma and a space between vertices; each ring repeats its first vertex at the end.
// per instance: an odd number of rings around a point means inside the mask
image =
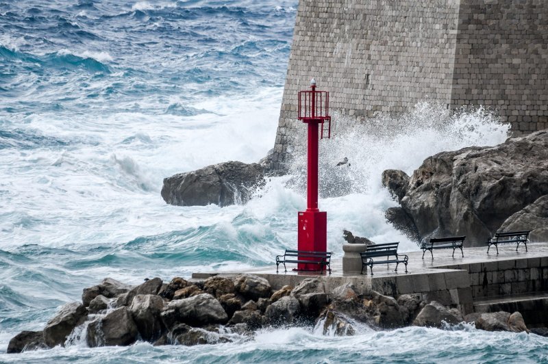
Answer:
MULTIPOLYGON (((299 211, 298 222, 297 241, 299 250, 327 252, 327 212, 299 211)), ((314 258, 308 260, 314 260, 314 258)), ((297 269, 321 270, 321 266, 299 263, 297 269)))

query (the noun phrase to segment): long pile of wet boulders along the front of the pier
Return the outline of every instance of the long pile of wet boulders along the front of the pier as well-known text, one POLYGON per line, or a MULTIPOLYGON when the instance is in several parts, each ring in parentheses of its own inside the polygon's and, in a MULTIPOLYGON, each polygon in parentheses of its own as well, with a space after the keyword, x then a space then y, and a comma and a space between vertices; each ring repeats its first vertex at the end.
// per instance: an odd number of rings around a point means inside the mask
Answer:
POLYGON ((361 325, 376 330, 406 325, 443 328, 468 320, 484 330, 528 331, 520 313, 462 317, 458 309, 405 294, 397 299, 375 291, 358 294, 353 285, 326 291, 308 278, 297 287, 272 291, 251 274, 206 280, 160 278, 128 287, 111 278, 84 289, 82 303, 65 304, 42 331, 23 331, 8 353, 70 346, 199 345, 245 341, 266 326, 308 326, 323 335, 355 335, 361 325))

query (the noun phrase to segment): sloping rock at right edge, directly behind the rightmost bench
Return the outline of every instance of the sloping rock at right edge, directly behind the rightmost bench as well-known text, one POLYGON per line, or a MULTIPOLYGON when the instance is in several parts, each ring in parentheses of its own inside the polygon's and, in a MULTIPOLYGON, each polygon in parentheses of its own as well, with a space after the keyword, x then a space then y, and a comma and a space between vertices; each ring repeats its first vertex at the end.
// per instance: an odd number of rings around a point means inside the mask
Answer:
POLYGON ((531 231, 532 242, 548 242, 548 195, 514 213, 499 228, 501 232, 523 230, 531 231))

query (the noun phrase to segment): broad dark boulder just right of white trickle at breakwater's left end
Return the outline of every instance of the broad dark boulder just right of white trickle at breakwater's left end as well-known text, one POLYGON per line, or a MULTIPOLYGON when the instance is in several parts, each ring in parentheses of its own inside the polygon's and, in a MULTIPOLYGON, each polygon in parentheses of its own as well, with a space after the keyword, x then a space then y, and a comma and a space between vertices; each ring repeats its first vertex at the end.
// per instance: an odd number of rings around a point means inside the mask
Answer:
POLYGON ((138 329, 127 307, 121 307, 88 324, 88 346, 127 346, 137 340, 138 329))

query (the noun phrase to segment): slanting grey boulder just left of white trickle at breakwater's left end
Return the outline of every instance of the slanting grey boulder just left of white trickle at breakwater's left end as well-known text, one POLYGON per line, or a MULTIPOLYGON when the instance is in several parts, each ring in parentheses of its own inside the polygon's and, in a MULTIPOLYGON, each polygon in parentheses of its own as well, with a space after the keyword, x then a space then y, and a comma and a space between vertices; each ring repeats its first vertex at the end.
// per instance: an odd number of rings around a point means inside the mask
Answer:
POLYGON ((88 310, 84 304, 79 302, 65 304, 44 328, 44 341, 47 346, 53 348, 53 346, 63 345, 66 337, 76 326, 84 323, 86 317, 88 317, 88 310))

